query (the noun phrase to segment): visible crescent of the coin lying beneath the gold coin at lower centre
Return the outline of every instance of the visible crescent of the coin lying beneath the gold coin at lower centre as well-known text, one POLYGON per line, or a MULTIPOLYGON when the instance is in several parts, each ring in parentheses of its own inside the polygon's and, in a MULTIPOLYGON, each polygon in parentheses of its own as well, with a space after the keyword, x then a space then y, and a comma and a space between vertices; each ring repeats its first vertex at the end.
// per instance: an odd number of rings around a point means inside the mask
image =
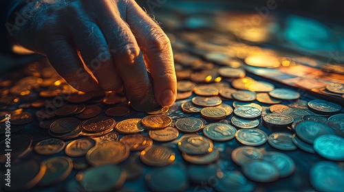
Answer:
POLYGON ((195 165, 206 165, 206 164, 213 163, 219 159, 219 151, 214 149, 212 152, 208 154, 195 155, 195 156, 182 153, 182 156, 184 160, 186 160, 189 163, 192 163, 195 165))

